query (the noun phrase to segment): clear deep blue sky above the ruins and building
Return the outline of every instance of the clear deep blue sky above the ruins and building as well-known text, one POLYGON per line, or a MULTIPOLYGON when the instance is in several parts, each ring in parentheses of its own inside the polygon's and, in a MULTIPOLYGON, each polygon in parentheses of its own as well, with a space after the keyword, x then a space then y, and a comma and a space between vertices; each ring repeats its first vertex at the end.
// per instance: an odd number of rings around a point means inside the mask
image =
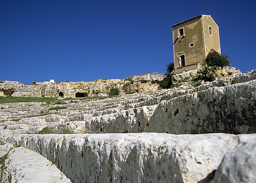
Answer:
POLYGON ((256 1, 1 0, 0 80, 124 79, 164 73, 172 25, 211 15, 222 54, 256 69, 256 1))

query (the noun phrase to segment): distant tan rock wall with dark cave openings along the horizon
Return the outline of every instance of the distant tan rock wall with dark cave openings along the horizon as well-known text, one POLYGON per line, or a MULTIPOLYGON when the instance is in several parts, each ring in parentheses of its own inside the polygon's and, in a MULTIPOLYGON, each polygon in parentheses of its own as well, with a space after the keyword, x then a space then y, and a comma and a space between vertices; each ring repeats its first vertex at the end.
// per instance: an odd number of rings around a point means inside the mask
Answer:
POLYGON ((0 96, 21 97, 63 97, 79 98, 91 96, 107 96, 110 88, 118 88, 120 93, 150 92, 158 89, 163 79, 160 74, 146 74, 127 77, 126 79, 95 80, 89 82, 42 83, 25 85, 18 81, 1 81, 0 96))

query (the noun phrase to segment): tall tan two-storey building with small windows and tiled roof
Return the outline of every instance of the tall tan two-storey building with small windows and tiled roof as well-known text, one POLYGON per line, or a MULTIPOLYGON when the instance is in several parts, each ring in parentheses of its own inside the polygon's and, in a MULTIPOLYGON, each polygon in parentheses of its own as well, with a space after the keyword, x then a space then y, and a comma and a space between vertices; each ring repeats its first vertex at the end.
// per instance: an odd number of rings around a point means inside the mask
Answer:
POLYGON ((172 26, 174 72, 197 69, 213 48, 221 53, 219 27, 211 15, 198 15, 172 26), (181 57, 179 63, 177 58, 181 57))

